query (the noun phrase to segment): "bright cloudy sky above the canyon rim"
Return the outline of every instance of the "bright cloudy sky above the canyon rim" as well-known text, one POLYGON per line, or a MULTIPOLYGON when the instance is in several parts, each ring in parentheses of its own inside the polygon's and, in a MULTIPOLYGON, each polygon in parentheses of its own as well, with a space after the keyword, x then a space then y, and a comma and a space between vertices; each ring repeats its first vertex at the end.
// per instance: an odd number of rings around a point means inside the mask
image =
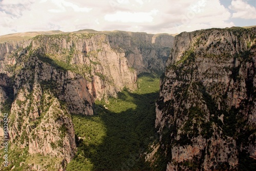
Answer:
POLYGON ((180 33, 256 25, 256 0, 0 0, 0 35, 81 29, 180 33))

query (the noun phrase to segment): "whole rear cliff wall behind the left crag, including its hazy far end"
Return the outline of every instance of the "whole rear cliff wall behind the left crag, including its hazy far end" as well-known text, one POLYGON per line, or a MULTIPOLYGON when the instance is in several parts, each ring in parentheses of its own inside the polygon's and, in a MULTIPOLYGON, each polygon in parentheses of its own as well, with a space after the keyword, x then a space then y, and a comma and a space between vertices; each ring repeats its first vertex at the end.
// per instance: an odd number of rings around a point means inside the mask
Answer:
POLYGON ((0 71, 12 76, 34 55, 81 75, 93 98, 101 100, 116 96, 123 87, 135 89, 141 72, 162 72, 173 41, 174 37, 166 34, 121 31, 39 35, 0 43, 0 71), (26 58, 24 54, 28 54, 26 58))

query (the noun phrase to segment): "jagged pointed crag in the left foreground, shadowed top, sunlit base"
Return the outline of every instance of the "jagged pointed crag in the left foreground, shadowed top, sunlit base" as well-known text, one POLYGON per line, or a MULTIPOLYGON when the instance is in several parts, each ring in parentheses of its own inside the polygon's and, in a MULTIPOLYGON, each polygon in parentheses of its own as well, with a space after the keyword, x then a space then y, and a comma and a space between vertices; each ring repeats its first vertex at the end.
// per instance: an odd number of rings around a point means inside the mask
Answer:
POLYGON ((81 86, 81 80, 81 76, 75 77, 30 57, 14 78, 15 99, 9 114, 11 144, 19 148, 28 146, 30 154, 69 162, 76 153, 71 113, 92 113, 90 95, 79 96, 84 90, 75 89, 81 86), (68 88, 69 84, 77 87, 68 88))

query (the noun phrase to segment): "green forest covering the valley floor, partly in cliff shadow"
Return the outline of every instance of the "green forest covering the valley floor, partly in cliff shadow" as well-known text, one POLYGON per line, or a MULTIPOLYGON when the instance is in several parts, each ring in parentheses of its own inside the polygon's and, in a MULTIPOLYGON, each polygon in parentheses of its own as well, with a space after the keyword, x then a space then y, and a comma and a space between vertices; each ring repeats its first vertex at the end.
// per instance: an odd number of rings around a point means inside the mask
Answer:
POLYGON ((161 170, 144 160, 156 140, 155 101, 159 77, 144 74, 138 89, 124 89, 109 102, 97 101, 93 116, 73 115, 78 152, 67 170, 161 170))

